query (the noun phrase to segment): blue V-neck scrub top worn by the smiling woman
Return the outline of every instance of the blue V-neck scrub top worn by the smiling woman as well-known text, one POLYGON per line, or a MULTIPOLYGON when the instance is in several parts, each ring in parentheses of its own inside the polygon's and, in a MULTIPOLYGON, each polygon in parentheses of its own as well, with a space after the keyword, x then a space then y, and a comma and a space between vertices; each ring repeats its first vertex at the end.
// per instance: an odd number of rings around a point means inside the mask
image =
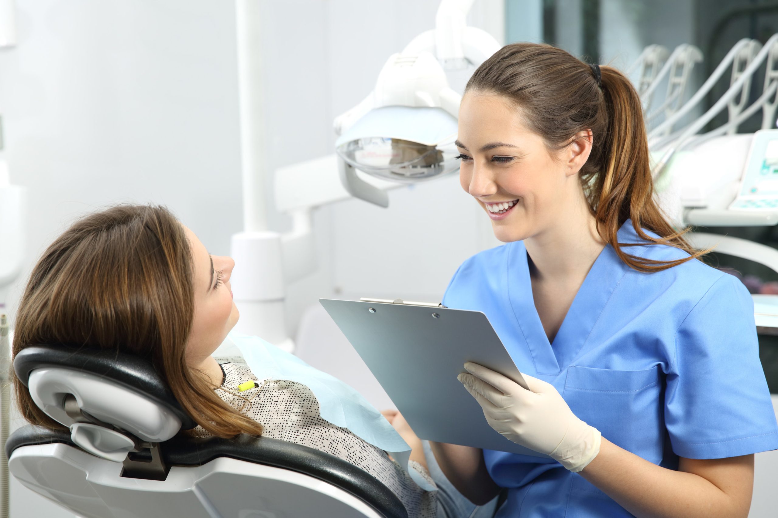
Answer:
MULTIPOLYGON (((648 259, 688 256, 645 244, 629 220, 619 243, 638 243, 623 250, 648 259)), ((553 343, 534 307, 523 242, 465 261, 443 304, 483 311, 519 370, 553 384, 580 419, 647 461, 677 469, 679 456, 778 449, 752 298, 736 277, 703 262, 640 273, 606 245, 553 343)), ((484 458, 494 481, 510 488, 496 516, 632 516, 551 459, 491 450, 484 458)))

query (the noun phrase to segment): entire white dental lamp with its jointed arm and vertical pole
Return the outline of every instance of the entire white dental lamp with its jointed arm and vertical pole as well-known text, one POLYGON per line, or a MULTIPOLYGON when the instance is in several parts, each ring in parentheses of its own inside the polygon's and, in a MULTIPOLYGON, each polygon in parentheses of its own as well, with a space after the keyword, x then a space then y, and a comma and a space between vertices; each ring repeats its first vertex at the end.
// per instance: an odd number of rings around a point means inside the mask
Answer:
POLYGON ((435 29, 389 57, 373 92, 335 118, 336 153, 275 171, 276 209, 293 221, 292 230, 281 235, 268 230, 268 175, 261 165, 260 3, 237 0, 244 231, 232 238, 232 287, 241 313, 236 331, 291 351, 286 285, 316 269, 312 210, 350 198, 388 207, 388 189, 456 172, 461 95, 450 89, 446 70, 478 66, 500 44, 466 26, 473 0, 440 2, 435 29))

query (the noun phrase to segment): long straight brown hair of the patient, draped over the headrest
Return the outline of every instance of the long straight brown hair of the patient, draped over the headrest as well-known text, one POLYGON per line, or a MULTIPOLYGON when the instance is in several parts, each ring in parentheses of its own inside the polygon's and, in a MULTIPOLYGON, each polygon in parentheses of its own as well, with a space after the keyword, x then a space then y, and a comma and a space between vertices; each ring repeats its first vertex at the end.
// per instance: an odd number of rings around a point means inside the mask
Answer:
MULTIPOLYGON (((142 356, 209 433, 259 435, 262 426, 226 405, 185 360, 193 269, 184 227, 164 207, 120 205, 83 217, 33 268, 16 315, 13 354, 63 344, 142 356)), ((63 428, 18 380, 16 401, 27 421, 63 428)))

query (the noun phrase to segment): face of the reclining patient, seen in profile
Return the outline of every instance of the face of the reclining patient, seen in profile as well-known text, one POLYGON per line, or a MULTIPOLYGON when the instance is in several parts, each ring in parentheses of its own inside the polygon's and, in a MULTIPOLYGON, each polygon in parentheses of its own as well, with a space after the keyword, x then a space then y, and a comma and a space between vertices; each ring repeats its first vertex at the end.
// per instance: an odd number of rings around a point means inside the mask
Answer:
POLYGON ((187 342, 187 361, 198 365, 219 347, 238 321, 230 289, 235 262, 230 257, 209 255, 195 233, 184 229, 195 262, 195 318, 187 342))

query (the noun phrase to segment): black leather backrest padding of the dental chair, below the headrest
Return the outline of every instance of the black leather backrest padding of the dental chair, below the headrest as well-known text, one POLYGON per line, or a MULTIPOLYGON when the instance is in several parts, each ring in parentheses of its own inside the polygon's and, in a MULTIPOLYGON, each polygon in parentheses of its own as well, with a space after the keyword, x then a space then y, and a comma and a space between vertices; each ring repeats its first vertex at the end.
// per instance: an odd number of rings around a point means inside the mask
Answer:
MULTIPOLYGON (((16 448, 48 443, 64 443, 76 447, 68 432, 28 425, 11 434, 5 443, 5 454, 11 457, 16 448)), ((408 511, 397 495, 373 475, 335 455, 286 440, 245 434, 234 439, 200 439, 179 434, 162 443, 162 457, 170 466, 202 466, 218 457, 230 457, 297 471, 349 492, 381 516, 408 518, 408 511)))

